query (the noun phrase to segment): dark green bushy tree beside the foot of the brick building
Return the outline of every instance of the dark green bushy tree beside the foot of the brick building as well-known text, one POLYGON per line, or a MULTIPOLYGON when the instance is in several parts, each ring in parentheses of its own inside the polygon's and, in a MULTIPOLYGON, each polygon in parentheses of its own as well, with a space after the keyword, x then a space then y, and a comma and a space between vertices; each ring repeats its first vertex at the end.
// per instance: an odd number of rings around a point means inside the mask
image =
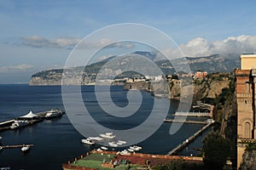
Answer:
POLYGON ((230 156, 230 141, 218 133, 208 133, 203 140, 204 163, 207 169, 222 169, 230 156))

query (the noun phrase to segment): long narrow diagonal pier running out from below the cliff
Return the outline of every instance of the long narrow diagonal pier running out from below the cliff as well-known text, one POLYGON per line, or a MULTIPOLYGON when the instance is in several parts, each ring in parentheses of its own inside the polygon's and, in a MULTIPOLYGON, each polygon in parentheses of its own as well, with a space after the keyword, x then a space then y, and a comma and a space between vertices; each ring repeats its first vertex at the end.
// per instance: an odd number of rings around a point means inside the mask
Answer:
POLYGON ((183 149, 183 147, 185 147, 186 145, 188 145, 190 142, 192 142, 196 137, 198 137, 201 133, 203 133, 205 130, 207 130, 208 127, 211 127, 213 124, 213 122, 207 123, 206 126, 202 127, 199 131, 197 131, 196 133, 194 133, 192 136, 189 137, 189 139, 185 139, 183 141, 183 143, 178 144, 175 148, 173 148, 172 150, 170 150, 168 152, 168 156, 172 156, 174 153, 176 153, 178 150, 183 149))

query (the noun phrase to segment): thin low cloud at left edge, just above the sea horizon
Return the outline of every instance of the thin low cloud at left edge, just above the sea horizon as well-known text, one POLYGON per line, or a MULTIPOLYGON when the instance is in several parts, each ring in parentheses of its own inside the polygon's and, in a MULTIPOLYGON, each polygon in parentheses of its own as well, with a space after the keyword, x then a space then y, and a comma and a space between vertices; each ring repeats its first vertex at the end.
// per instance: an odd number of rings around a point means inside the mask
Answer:
POLYGON ((20 64, 20 65, 4 65, 0 66, 0 73, 9 73, 17 71, 28 71, 34 68, 33 65, 20 64))

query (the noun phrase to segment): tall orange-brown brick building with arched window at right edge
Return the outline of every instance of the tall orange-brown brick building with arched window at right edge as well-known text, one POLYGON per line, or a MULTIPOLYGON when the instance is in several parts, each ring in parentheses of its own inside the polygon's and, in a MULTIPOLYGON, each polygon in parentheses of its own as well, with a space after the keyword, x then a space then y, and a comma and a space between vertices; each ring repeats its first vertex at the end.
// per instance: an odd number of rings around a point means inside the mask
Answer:
POLYGON ((241 69, 236 69, 237 167, 247 143, 256 141, 256 54, 241 54, 241 69))

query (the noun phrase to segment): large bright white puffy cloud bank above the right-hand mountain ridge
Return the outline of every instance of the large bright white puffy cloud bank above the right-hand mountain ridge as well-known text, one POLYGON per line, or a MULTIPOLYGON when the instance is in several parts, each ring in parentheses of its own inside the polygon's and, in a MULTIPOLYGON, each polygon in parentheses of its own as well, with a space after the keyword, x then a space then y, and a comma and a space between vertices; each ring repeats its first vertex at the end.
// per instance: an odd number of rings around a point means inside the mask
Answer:
MULTIPOLYGON (((185 56, 199 57, 211 54, 245 54, 256 52, 256 36, 241 35, 227 37, 224 40, 208 42, 205 38, 196 37, 179 46, 185 56)), ((178 49, 166 49, 172 57, 182 57, 178 49)))

